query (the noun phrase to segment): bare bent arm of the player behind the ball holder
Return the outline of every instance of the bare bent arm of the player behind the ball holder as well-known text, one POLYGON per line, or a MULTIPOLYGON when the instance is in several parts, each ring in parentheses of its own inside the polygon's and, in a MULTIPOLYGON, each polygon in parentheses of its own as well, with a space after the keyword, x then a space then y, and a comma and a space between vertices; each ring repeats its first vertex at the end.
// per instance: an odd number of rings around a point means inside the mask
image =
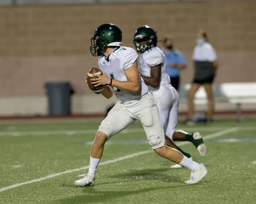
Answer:
POLYGON ((161 64, 150 67, 150 77, 141 76, 146 85, 157 87, 160 83, 161 64))

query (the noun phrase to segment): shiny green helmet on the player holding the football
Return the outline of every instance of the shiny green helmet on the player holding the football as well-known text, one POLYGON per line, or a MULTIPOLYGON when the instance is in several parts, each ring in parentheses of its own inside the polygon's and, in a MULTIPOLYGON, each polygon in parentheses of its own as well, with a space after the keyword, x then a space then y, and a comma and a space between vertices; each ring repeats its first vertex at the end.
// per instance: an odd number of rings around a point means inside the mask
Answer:
POLYGON ((103 24, 94 32, 91 43, 92 55, 100 56, 106 46, 120 46, 122 44, 122 31, 114 24, 103 24))

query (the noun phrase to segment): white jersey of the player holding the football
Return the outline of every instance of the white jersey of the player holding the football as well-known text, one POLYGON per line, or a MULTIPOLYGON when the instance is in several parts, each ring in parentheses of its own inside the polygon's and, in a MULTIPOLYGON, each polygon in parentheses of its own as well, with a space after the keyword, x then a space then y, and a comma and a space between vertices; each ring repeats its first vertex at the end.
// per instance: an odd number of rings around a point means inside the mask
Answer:
MULTIPOLYGON (((137 63, 137 58, 138 55, 134 49, 120 46, 114 49, 108 57, 99 57, 99 69, 105 72, 109 78, 119 81, 127 81, 125 69, 128 69, 137 63)), ((140 89, 138 92, 128 92, 117 89, 116 87, 114 87, 114 91, 117 99, 120 101, 129 101, 148 93, 148 87, 140 77, 140 89)))

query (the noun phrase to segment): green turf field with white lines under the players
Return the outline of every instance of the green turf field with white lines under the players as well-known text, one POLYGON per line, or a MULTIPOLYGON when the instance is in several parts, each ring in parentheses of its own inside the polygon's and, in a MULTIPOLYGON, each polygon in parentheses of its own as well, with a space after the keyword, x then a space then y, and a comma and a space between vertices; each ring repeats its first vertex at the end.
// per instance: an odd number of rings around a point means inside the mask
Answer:
POLYGON ((146 143, 142 126, 132 124, 107 142, 96 185, 74 187, 87 172, 98 126, 96 121, 0 124, 0 203, 256 203, 255 119, 178 125, 200 131, 207 144, 204 158, 192 144, 180 144, 208 168, 200 184, 183 184, 190 171, 170 169, 146 143))

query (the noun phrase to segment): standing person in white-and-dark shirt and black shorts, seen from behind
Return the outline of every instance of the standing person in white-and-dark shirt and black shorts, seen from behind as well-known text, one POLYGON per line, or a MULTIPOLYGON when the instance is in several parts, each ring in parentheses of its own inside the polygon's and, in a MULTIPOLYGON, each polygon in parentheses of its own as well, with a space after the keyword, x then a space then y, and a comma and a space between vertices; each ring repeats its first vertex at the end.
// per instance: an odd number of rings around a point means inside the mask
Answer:
POLYGON ((195 77, 187 95, 189 108, 189 114, 186 121, 187 125, 194 124, 194 96, 200 86, 204 86, 208 98, 207 123, 212 122, 214 113, 212 82, 215 78, 215 72, 218 69, 216 51, 208 42, 207 33, 203 30, 199 30, 197 33, 196 44, 197 46, 195 46, 193 51, 195 77))

